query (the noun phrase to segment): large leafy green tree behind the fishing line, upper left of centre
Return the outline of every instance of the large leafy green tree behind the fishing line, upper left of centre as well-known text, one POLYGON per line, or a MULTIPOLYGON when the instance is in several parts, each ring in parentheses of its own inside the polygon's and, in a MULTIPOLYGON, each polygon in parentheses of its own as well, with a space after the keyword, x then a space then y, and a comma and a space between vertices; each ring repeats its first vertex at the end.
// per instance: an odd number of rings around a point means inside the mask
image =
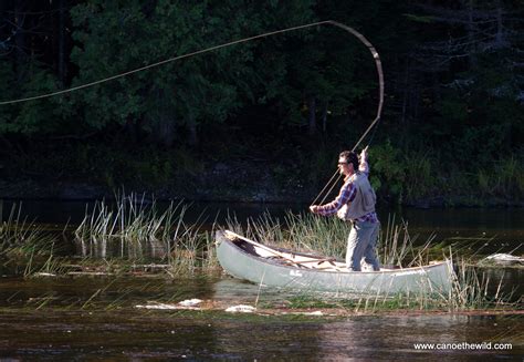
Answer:
MULTIPOLYGON (((86 1, 72 10, 78 43, 72 54, 80 69, 75 83, 252 35, 253 29, 263 28, 258 10, 241 1, 86 1)), ((167 63, 86 90, 78 102, 92 126, 133 124, 168 146, 177 135, 181 139, 185 128, 188 142, 196 144, 199 125, 224 121, 256 87, 253 46, 167 63)))

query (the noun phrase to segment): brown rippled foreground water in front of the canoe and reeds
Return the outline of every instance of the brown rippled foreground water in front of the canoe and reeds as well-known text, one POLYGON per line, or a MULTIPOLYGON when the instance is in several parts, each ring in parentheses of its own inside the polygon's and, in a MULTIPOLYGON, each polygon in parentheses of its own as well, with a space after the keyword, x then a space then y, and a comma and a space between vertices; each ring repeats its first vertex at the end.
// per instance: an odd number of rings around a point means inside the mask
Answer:
POLYGON ((325 318, 145 310, 134 306, 188 298, 223 307, 253 306, 256 299, 264 303, 287 296, 259 292, 256 286, 232 279, 3 278, 1 282, 0 358, 9 361, 522 361, 524 353, 523 314, 325 318), (463 342, 491 342, 492 348, 511 343, 512 349, 413 347, 463 342))

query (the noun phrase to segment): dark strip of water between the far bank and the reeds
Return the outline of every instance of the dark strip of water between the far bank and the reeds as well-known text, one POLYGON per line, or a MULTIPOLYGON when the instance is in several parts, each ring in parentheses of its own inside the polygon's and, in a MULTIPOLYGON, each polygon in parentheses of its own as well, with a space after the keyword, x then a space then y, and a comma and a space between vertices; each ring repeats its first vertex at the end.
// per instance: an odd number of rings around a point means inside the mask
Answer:
MULTIPOLYGON (((147 201, 147 200, 146 200, 147 201)), ((57 200, 0 200, 0 220, 9 217, 13 205, 22 206, 22 215, 29 220, 42 224, 77 225, 85 216, 86 208, 93 209, 94 201, 57 201, 57 200)), ((158 208, 167 208, 169 203, 157 203, 158 208)), ((229 215, 235 215, 240 221, 256 218, 264 213, 283 218, 285 213, 307 211, 307 205, 282 204, 224 204, 224 203, 187 203, 189 221, 212 224, 223 223, 229 215)), ((461 209, 379 209, 382 225, 388 218, 408 223, 412 235, 426 239, 436 234, 437 239, 452 237, 494 238, 501 244, 517 246, 524 244, 524 208, 461 208, 461 209)))

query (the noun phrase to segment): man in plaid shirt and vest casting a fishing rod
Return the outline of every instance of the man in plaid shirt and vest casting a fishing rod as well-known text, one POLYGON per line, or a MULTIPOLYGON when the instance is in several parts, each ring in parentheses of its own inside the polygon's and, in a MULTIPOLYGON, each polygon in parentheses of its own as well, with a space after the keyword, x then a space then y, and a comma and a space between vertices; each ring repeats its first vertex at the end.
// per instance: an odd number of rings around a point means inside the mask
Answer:
POLYGON ((375 254, 375 246, 380 223, 375 213, 375 190, 368 180, 367 147, 360 153, 360 162, 354 152, 340 153, 338 170, 345 176, 338 196, 329 204, 312 205, 310 210, 323 216, 337 214, 340 219, 352 223, 352 231, 347 238, 347 268, 360 271, 360 261, 364 258, 373 270, 378 271, 380 263, 375 254))

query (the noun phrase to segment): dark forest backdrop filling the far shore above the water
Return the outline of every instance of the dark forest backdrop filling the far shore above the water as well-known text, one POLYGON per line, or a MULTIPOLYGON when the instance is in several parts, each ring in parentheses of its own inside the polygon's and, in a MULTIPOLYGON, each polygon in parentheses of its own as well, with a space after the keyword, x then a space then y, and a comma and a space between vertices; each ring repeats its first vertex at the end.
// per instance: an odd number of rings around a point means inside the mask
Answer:
POLYGON ((524 3, 3 0, 0 198, 311 201, 374 120, 387 204, 523 206, 524 3), (74 92, 18 102, 80 87, 74 92))

